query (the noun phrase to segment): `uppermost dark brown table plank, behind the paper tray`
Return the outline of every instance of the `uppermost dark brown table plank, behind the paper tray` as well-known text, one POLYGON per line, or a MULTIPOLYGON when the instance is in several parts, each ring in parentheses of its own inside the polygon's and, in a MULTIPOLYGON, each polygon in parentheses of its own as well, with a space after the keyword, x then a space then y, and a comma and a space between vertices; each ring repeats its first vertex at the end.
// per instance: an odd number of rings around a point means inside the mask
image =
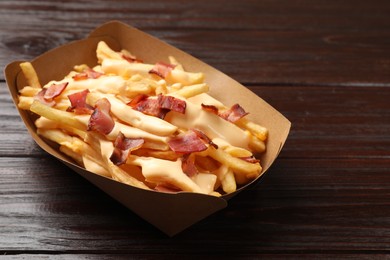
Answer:
POLYGON ((115 19, 244 83, 388 86, 390 7, 374 2, 1 1, 0 66, 115 19))

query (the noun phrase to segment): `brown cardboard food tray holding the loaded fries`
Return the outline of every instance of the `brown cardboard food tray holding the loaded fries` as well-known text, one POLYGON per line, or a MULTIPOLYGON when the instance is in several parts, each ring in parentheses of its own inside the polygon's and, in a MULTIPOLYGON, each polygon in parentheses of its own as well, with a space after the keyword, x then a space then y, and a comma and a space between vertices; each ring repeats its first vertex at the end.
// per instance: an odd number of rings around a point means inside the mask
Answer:
MULTIPOLYGON (((40 82, 62 79, 76 64, 97 64, 96 46, 104 40, 112 49, 127 49, 147 62, 168 62, 168 56, 174 56, 187 71, 203 72, 210 87, 209 94, 227 106, 239 103, 250 112, 248 118, 269 130, 266 143, 267 151, 260 156, 262 175, 269 169, 281 151, 290 129, 290 122, 256 94, 232 78, 192 57, 191 55, 168 45, 146 33, 118 21, 108 22, 96 28, 83 40, 74 41, 57 47, 35 58, 32 62, 40 82)), ((19 68, 21 61, 14 61, 5 68, 7 85, 15 105, 18 103, 18 90, 26 84, 19 68)), ((17 107, 17 106, 16 106, 17 107)), ((117 181, 99 176, 77 166, 71 159, 60 153, 55 146, 46 142, 36 133, 34 115, 19 110, 29 133, 36 143, 46 152, 62 161, 68 167, 101 190, 112 196, 124 206, 146 221, 173 236, 201 219, 225 208, 228 200, 243 189, 257 183, 260 179, 241 187, 236 192, 214 197, 203 194, 180 192, 161 193, 135 188, 117 181)))

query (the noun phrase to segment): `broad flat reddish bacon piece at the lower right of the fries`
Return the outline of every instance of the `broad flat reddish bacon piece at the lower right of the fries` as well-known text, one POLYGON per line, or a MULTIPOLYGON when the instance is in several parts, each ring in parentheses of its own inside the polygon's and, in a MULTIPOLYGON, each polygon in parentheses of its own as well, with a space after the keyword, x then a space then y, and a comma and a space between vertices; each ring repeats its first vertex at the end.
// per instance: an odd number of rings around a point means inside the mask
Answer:
POLYGON ((205 142, 193 130, 171 138, 168 145, 172 151, 183 154, 201 152, 207 149, 205 142))

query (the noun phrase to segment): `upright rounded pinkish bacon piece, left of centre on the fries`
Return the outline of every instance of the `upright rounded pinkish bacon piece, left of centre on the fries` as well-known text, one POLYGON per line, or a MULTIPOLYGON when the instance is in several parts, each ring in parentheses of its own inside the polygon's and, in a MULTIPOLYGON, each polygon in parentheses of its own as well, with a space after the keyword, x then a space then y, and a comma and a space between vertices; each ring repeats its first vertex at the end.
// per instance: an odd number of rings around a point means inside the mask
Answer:
POLYGON ((115 126, 110 115, 111 104, 106 98, 96 102, 95 109, 88 122, 88 131, 96 131, 103 135, 109 134, 115 126))

